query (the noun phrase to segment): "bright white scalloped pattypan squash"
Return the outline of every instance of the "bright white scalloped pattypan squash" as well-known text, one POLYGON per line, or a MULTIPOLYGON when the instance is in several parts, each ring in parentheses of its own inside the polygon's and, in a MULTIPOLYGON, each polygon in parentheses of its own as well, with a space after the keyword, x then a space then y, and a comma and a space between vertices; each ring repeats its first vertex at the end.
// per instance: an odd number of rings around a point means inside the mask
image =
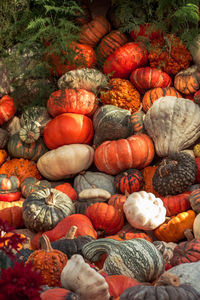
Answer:
POLYGON ((130 225, 138 229, 154 230, 165 221, 163 201, 145 191, 130 194, 123 210, 130 225))

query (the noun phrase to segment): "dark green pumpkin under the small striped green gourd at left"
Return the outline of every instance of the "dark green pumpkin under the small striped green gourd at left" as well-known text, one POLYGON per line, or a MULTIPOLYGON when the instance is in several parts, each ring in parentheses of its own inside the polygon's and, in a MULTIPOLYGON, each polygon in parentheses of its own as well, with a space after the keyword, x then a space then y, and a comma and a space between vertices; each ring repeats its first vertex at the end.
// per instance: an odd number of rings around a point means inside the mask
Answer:
POLYGON ((10 136, 7 148, 9 155, 12 157, 25 158, 34 161, 37 161, 40 156, 48 151, 48 148, 41 137, 36 142, 27 144, 22 142, 19 133, 10 136))

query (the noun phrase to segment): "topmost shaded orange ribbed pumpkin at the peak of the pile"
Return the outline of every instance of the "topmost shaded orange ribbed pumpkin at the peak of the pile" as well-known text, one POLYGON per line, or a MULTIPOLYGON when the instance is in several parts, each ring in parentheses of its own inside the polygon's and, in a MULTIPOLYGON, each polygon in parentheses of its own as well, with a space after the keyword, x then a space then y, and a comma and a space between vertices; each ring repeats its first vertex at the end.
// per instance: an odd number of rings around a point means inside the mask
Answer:
POLYGON ((95 16, 92 21, 81 27, 79 43, 95 47, 110 30, 110 23, 104 16, 95 16))

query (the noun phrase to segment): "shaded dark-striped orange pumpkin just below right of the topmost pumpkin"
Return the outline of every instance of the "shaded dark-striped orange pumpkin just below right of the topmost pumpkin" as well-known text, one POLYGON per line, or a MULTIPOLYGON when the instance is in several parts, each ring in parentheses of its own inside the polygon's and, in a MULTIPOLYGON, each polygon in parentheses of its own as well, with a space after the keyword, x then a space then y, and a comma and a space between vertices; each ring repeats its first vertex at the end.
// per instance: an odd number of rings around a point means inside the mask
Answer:
POLYGON ((123 46, 127 42, 128 39, 124 33, 119 30, 112 30, 101 39, 96 49, 97 60, 99 62, 104 62, 104 60, 115 51, 115 49, 123 46))

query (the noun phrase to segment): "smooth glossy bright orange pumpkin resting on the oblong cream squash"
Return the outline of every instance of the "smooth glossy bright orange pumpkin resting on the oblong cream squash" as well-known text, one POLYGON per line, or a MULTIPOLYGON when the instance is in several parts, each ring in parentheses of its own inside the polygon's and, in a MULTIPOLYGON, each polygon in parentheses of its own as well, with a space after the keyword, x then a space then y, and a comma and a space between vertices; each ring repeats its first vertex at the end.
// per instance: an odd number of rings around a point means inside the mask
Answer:
POLYGON ((91 119, 82 114, 64 113, 44 128, 43 139, 49 149, 69 144, 89 144, 94 134, 91 119))

